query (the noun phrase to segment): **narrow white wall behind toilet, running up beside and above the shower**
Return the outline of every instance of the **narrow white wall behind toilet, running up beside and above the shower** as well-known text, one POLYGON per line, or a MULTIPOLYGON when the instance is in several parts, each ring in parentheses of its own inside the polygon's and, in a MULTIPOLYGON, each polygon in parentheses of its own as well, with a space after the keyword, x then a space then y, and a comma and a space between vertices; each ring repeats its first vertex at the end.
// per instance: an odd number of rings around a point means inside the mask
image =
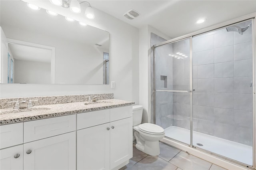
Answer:
POLYGON ((152 26, 143 26, 140 28, 139 40, 139 70, 140 70, 140 90, 139 103, 144 107, 142 123, 150 122, 151 117, 151 33, 170 40, 170 37, 164 35, 152 26))

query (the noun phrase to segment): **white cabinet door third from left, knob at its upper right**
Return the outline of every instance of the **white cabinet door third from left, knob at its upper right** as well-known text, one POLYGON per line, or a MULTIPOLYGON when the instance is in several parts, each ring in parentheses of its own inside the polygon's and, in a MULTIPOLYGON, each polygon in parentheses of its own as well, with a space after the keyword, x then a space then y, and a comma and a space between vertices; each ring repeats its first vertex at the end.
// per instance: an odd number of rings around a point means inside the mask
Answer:
POLYGON ((109 170, 109 123, 77 130, 77 169, 109 170))

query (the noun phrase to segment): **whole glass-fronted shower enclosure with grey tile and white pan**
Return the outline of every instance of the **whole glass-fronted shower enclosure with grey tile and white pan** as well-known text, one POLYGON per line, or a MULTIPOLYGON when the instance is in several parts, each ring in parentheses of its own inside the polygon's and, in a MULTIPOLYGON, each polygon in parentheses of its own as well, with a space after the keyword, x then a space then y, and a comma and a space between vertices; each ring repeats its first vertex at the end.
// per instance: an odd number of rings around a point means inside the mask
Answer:
POLYGON ((253 167, 253 19, 155 45, 154 123, 166 138, 253 167))

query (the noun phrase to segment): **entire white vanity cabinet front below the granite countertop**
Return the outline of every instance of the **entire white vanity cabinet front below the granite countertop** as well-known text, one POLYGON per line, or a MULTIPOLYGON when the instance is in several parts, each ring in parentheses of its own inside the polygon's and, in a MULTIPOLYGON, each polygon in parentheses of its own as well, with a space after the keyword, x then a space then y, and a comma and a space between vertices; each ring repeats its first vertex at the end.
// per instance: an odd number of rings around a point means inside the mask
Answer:
POLYGON ((110 170, 132 158, 132 106, 0 126, 0 170, 110 170))

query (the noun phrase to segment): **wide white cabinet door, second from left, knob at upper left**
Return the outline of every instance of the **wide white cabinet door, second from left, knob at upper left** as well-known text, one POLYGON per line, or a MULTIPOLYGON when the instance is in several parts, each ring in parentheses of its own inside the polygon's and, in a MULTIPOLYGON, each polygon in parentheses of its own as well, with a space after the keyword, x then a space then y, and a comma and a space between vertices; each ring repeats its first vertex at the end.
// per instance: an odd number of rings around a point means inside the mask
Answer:
POLYGON ((76 132, 24 144, 24 170, 75 169, 76 132))

